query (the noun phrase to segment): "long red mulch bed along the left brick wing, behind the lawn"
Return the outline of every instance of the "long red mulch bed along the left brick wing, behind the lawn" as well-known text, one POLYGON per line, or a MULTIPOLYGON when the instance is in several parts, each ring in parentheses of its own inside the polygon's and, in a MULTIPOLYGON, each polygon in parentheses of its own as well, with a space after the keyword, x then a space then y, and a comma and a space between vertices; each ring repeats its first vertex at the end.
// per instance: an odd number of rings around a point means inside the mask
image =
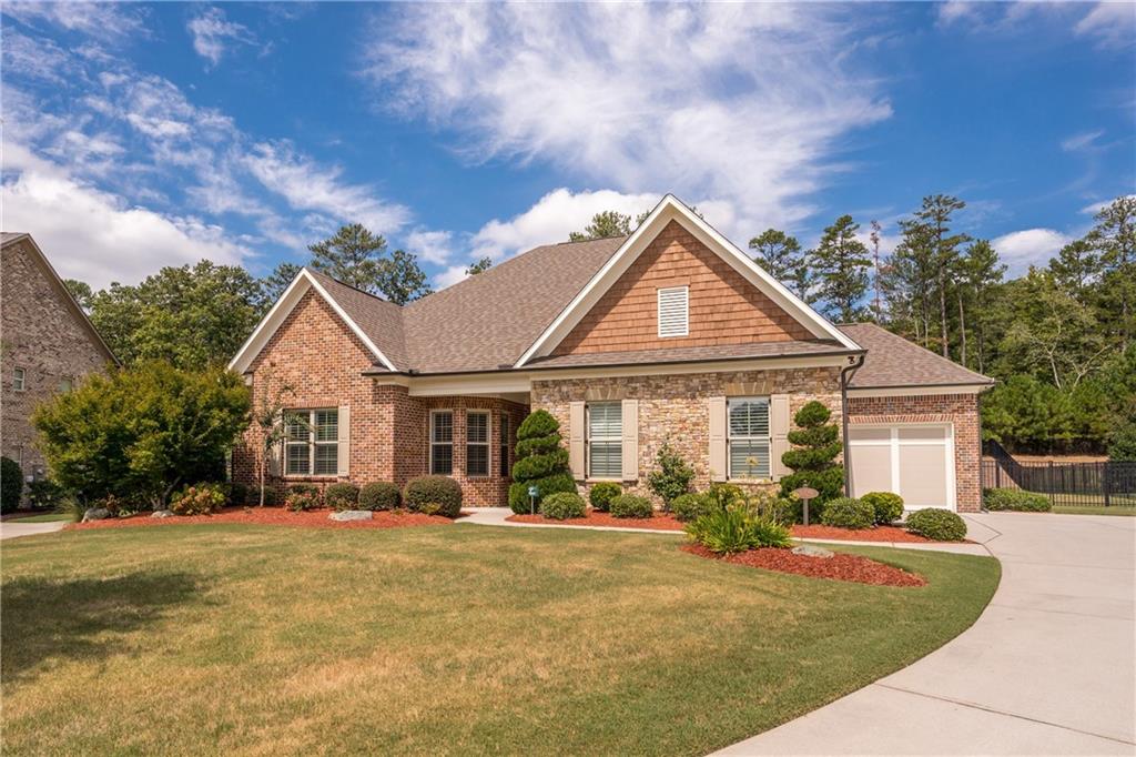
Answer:
POLYGON ((399 529, 416 525, 448 525, 453 523, 441 515, 424 515, 404 510, 377 510, 370 521, 332 521, 332 510, 293 513, 283 507, 226 507, 212 515, 175 515, 152 518, 150 513, 139 513, 126 518, 107 518, 89 523, 73 523, 68 529, 124 529, 131 526, 174 525, 179 523, 251 523, 253 525, 290 525, 307 529, 399 529))

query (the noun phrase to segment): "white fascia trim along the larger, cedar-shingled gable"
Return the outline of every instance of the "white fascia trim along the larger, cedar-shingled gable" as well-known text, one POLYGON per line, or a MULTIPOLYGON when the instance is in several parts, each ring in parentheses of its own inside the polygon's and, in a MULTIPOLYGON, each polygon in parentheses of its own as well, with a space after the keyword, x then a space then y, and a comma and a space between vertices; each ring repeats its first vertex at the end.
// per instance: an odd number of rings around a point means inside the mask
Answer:
POLYGON ((724 260, 742 274, 751 284, 758 286, 774 302, 793 315, 802 325, 821 339, 832 339, 853 350, 861 349, 847 335, 825 319, 819 313, 803 302, 796 294, 770 276, 744 252, 722 236, 710 224, 700 218, 674 194, 667 194, 654 207, 646 219, 632 233, 618 250, 603 264, 603 267, 579 291, 578 294, 560 311, 560 315, 533 342, 515 368, 524 367, 534 357, 541 357, 552 350, 585 314, 599 301, 600 297, 623 275, 659 231, 670 221, 678 221, 695 239, 717 252, 724 260))

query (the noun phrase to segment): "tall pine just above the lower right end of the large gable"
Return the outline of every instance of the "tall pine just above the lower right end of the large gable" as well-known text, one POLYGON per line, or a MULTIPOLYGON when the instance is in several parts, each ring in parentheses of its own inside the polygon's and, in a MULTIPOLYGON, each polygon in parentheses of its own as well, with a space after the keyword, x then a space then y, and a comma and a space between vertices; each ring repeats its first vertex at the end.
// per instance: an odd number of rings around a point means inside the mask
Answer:
POLYGON ((849 323, 860 317, 868 291, 868 248, 857 239, 860 224, 852 216, 837 218, 825 228, 817 249, 809 253, 816 272, 817 299, 825 315, 849 323))

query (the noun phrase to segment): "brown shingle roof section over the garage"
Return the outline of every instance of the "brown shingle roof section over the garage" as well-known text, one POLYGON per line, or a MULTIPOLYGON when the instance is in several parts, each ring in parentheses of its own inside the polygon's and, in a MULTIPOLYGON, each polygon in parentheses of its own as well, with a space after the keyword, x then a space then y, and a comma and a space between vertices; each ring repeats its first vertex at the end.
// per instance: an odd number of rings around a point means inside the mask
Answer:
POLYGON ((874 323, 842 324, 837 327, 868 350, 863 366, 849 383, 852 389, 994 383, 992 378, 925 350, 874 323))

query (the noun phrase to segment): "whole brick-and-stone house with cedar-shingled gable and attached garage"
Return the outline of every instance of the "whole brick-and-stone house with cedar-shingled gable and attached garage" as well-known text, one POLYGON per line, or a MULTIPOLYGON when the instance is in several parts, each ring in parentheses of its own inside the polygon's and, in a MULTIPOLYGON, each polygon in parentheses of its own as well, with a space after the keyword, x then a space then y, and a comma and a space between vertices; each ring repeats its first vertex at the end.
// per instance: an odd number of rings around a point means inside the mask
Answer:
MULTIPOLYGON (((646 492, 661 444, 711 481, 775 482, 796 409, 846 429, 854 493, 977 510, 991 380, 877 326, 835 326, 667 196, 626 238, 551 244, 406 307, 304 269, 231 366, 306 415, 285 482, 452 475, 503 505, 516 430, 561 423, 582 490, 646 492), (845 414, 846 409, 846 414, 845 414), (846 423, 845 423, 846 415, 846 423)), ((257 430, 234 455, 252 483, 257 430)))

